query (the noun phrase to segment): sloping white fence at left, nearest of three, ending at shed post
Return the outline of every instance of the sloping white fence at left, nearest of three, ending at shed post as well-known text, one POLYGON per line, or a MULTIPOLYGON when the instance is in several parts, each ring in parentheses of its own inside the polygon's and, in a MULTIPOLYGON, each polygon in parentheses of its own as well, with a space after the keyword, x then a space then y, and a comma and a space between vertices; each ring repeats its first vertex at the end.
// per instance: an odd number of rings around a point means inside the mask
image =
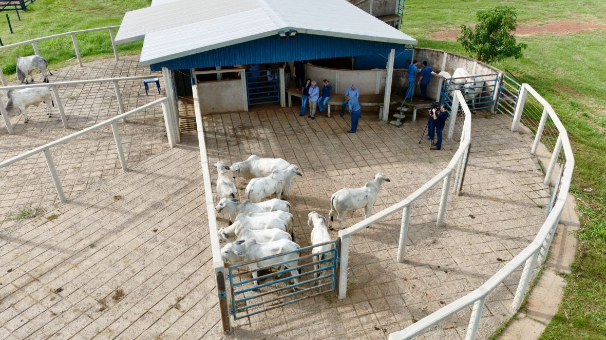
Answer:
MULTIPOLYGON (((44 157, 46 159, 48 171, 50 172, 50 175, 53 178, 53 184, 55 184, 55 189, 57 190, 57 194, 59 195, 59 200, 61 200, 61 202, 64 203, 65 201, 67 201, 67 199, 65 198, 65 194, 64 194, 63 188, 61 186, 61 179, 59 178, 59 174, 57 172, 57 169, 55 168, 55 163, 53 162, 53 157, 50 154, 50 148, 53 148, 55 146, 66 143, 68 140, 75 139, 76 137, 82 136, 82 135, 87 134, 88 132, 94 131, 96 129, 100 129, 106 125, 112 125, 112 132, 113 132, 114 140, 116 142, 116 149, 118 149, 118 157, 120 159, 120 164, 122 165, 122 169, 124 171, 127 171, 128 166, 127 166, 126 158, 124 157, 124 151, 122 150, 122 139, 121 139, 120 133, 118 131, 118 124, 117 124, 118 120, 126 119, 126 117, 128 117, 128 116, 132 116, 135 113, 145 111, 148 108, 151 108, 158 104, 162 105, 162 111, 164 112, 164 116, 166 117, 167 110, 168 110, 166 100, 167 100, 166 97, 163 97, 158 100, 154 100, 151 103, 147 103, 143 106, 139 106, 135 110, 130 110, 127 113, 120 114, 116 117, 113 117, 112 119, 105 120, 104 122, 101 122, 101 123, 95 124, 93 126, 89 126, 88 128, 82 129, 81 131, 74 132, 73 134, 70 134, 69 136, 62 137, 53 142, 39 146, 38 148, 24 152, 20 155, 16 155, 15 157, 12 157, 11 159, 7 159, 4 162, 0 162, 0 168, 2 168, 3 166, 11 165, 15 162, 19 162, 20 160, 26 159, 27 157, 38 154, 40 152, 44 152, 44 157)), ((168 128, 167 128, 167 133, 168 133, 168 128)))

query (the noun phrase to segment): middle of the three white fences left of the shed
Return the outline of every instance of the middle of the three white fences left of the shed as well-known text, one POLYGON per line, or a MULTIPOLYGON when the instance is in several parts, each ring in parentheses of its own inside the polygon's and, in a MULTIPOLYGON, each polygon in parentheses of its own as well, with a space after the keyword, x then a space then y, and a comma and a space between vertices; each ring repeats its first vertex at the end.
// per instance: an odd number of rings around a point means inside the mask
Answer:
MULTIPOLYGON (((113 83, 114 91, 116 94, 116 100, 118 101, 118 108, 121 114, 124 113, 124 103, 122 102, 122 93, 120 91, 119 82, 125 82, 128 80, 138 80, 138 79, 147 79, 147 78, 156 78, 158 75, 148 75, 148 76, 133 76, 133 77, 118 77, 118 78, 104 78, 104 79, 87 79, 87 80, 72 80, 69 82, 56 82, 56 83, 38 83, 38 84, 28 84, 28 85, 13 85, 7 87, 0 87, 0 91, 8 91, 8 90, 21 90, 24 88, 34 88, 34 87, 48 87, 53 91, 53 97, 55 97, 55 103, 59 110, 59 116, 61 116, 61 122, 63 123, 64 128, 68 128, 67 117, 65 117, 65 110, 63 103, 61 102, 61 98, 59 97, 58 87, 68 87, 68 86, 76 86, 82 84, 90 84, 90 83, 113 83)), ((0 97, 0 113, 2 113, 2 118, 4 118, 4 123, 6 125, 6 129, 8 134, 13 134, 13 125, 10 123, 10 117, 5 110, 4 102, 0 97)), ((126 122, 126 117, 122 119, 126 122)), ((169 142, 171 139, 169 139, 169 142)), ((173 144, 171 144, 171 147, 173 144)))

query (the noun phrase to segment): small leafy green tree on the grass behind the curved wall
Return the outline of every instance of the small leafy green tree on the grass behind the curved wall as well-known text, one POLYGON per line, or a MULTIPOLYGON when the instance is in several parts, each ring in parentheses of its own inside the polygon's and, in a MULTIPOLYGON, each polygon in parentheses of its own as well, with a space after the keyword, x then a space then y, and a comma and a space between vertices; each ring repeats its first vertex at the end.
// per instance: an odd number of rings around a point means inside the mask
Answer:
POLYGON ((516 11, 513 7, 498 6, 476 13, 476 29, 461 25, 461 34, 456 38, 465 51, 476 59, 491 63, 522 56, 526 44, 516 45, 516 37, 511 31, 516 30, 516 11))

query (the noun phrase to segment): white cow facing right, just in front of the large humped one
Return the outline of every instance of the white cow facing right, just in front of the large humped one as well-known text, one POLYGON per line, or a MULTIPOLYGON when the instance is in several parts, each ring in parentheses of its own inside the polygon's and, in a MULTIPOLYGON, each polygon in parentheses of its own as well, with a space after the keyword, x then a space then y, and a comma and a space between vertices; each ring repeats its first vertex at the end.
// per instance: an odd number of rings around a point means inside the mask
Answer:
POLYGON ((245 197, 253 203, 258 203, 266 197, 276 194, 276 198, 288 198, 288 183, 292 183, 295 175, 302 176, 299 168, 291 164, 284 170, 274 170, 267 177, 253 178, 248 182, 245 197))

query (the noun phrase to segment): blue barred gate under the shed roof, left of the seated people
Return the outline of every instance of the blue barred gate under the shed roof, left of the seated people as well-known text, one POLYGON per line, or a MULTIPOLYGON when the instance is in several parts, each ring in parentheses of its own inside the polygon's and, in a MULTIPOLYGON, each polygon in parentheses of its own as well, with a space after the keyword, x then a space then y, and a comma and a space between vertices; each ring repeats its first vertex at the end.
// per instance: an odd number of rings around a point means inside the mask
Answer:
POLYGON ((280 102, 280 76, 277 68, 271 70, 246 71, 248 105, 280 102), (270 74, 267 74, 270 72, 270 74))

